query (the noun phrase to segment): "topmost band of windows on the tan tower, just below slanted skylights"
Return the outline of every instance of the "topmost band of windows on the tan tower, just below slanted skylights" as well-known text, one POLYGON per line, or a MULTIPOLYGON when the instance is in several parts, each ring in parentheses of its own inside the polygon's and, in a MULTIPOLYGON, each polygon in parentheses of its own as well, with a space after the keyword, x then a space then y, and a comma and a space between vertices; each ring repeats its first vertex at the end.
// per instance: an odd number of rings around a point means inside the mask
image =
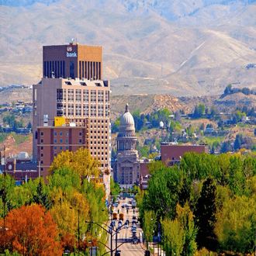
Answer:
POLYGON ((104 92, 105 92, 105 102, 109 103, 109 91, 96 91, 96 90, 81 90, 81 89, 57 89, 57 102, 81 102, 83 99, 84 103, 104 103, 104 92), (81 91, 83 97, 81 97, 81 91), (75 93, 74 93, 75 92, 75 93), (97 101, 98 92, 98 101, 97 101), (67 95, 66 95, 67 93, 67 95))

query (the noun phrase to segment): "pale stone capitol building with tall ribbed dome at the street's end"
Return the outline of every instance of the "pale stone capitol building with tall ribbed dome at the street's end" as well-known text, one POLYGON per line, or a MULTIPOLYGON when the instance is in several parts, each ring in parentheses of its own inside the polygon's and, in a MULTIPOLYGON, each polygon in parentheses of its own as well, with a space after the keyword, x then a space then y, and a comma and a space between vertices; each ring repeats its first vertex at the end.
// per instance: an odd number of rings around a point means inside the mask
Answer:
POLYGON ((118 182, 121 189, 131 188, 140 181, 140 157, 137 151, 137 136, 134 119, 128 103, 120 119, 119 133, 116 138, 116 159, 112 161, 112 177, 118 182))

